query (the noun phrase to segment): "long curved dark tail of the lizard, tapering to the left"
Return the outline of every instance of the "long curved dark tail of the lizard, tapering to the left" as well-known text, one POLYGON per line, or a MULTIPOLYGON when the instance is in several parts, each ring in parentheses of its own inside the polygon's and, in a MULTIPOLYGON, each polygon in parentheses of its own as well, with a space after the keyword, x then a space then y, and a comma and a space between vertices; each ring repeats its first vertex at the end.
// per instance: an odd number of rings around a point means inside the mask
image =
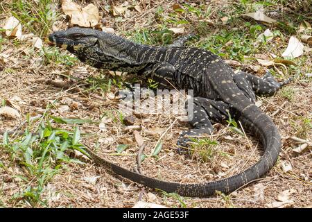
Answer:
POLYGON ((166 192, 175 192, 181 196, 210 196, 215 194, 216 191, 229 193, 239 189, 239 187, 242 187, 252 180, 260 178, 264 173, 268 172, 275 164, 281 149, 281 138, 275 124, 270 117, 261 112, 256 105, 250 103, 250 105, 241 110, 241 117, 239 119, 241 119, 244 128, 250 132, 254 132, 261 140, 264 153, 259 162, 252 165, 252 167, 223 180, 203 183, 166 182, 119 167, 116 164, 98 157, 98 155, 93 153, 89 148, 87 148, 87 153, 89 153, 96 164, 103 165, 111 169, 114 173, 142 185, 146 185, 147 187, 162 189, 166 192))

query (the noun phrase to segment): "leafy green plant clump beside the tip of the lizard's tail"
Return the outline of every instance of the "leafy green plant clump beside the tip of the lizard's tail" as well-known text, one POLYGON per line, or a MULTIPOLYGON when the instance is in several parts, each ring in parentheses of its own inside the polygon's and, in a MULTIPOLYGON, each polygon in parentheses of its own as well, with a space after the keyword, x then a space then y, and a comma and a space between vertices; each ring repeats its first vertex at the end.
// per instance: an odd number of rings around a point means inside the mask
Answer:
POLYGON ((11 160, 17 162, 24 170, 22 175, 17 175, 24 182, 24 191, 16 193, 13 199, 24 200, 33 207, 46 206, 46 200, 42 200, 41 197, 46 183, 64 169, 64 164, 83 163, 65 154, 73 149, 85 153, 79 140, 78 127, 69 132, 52 128, 49 121, 40 123, 33 133, 25 130, 24 135, 17 139, 12 139, 5 133, 0 146, 10 154, 11 160))

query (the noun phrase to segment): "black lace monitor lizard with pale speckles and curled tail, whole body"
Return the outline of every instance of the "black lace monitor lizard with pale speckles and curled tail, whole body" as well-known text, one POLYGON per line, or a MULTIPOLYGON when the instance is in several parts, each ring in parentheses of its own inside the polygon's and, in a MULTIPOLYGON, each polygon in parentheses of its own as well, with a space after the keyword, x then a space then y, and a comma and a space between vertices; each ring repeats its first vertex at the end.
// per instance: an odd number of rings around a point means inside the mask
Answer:
MULTIPOLYGON (((172 83, 177 89, 193 89, 193 129, 182 134, 211 134, 211 123, 231 114, 245 130, 258 137, 263 155, 252 167, 239 174, 212 182, 166 182, 135 173, 98 157, 87 148, 96 164, 148 187, 175 192, 182 196, 210 196, 215 191, 229 193, 256 180, 275 164, 281 150, 281 138, 270 117, 256 105, 255 93, 272 95, 291 79, 278 83, 271 74, 258 78, 234 71, 210 51, 183 46, 191 35, 168 46, 137 44, 122 37, 90 28, 73 27, 49 35, 49 40, 67 49, 79 60, 93 67, 148 75, 162 85, 172 83)), ((187 139, 178 142, 185 145, 187 139)))

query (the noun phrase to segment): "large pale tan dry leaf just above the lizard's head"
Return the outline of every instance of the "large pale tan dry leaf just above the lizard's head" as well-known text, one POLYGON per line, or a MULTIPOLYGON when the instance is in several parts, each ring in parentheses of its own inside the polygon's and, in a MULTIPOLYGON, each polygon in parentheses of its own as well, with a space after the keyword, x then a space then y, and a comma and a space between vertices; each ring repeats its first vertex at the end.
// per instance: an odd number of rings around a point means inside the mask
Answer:
POLYGON ((62 0, 62 10, 71 18, 71 24, 78 26, 94 27, 100 19, 98 8, 92 3, 82 8, 71 0, 62 0))

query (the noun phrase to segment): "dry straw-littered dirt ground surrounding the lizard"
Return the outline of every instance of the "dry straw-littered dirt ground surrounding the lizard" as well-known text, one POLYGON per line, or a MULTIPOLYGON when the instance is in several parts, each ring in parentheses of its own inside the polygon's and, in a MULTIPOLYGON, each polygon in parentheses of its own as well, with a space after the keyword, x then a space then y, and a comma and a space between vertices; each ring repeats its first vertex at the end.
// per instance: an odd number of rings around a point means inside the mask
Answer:
MULTIPOLYGON (((60 15, 63 15, 58 19, 58 23, 55 23, 55 26, 58 29, 67 28, 69 19, 62 13, 60 1, 54 2, 60 15)), ((157 17, 159 6, 163 8, 163 17, 170 18, 173 13, 173 4, 179 1, 134 2, 136 6, 140 6, 141 12, 128 8, 125 15, 121 16, 121 21, 118 20, 119 17, 112 15, 112 12, 107 10, 107 6, 119 6, 122 1, 94 0, 82 1, 80 4, 86 6, 88 3, 94 3, 102 13, 103 26, 114 28, 116 35, 137 40, 135 35, 137 36, 139 28, 141 30, 144 28, 159 30, 159 27, 163 25, 162 20, 159 21, 157 17)), ((134 2, 129 1, 129 3, 134 2)), ((278 15, 275 19, 281 21, 287 16, 298 19, 300 17, 298 13, 304 12, 304 10, 296 8, 301 6, 295 6, 295 4, 292 6, 291 1, 286 4, 281 4, 280 1, 270 2, 275 2, 275 4, 268 8, 277 10, 278 15)), ((307 1, 302 2, 306 3, 307 1)), ((234 13, 232 7, 238 7, 241 4, 239 1, 189 1, 189 4, 193 7, 201 6, 203 10, 209 7, 212 9, 210 20, 205 27, 206 35, 202 34, 202 29, 198 28, 200 26, 198 21, 182 24, 185 29, 184 33, 195 32, 200 36, 200 41, 205 41, 210 34, 215 35, 223 29, 239 26, 239 22, 224 24, 221 20, 225 15, 233 15, 231 14, 234 13)), ((10 3, 0 3, 1 27, 4 21, 12 15, 9 5, 10 3)), ((250 7, 252 5, 253 3, 250 3, 250 7)), ((252 10, 246 6, 245 10, 248 9, 252 10)), ((311 11, 304 13, 306 21, 312 24, 311 11)), ((239 17, 239 19, 242 18, 239 17)), ((245 22, 257 24, 252 19, 244 19, 245 22)), ((300 21, 293 19, 294 26, 299 26, 300 21)), ((177 25, 169 23, 166 26, 171 28, 177 25)), ((266 26, 271 30, 279 29, 271 24, 266 26)), ((26 26, 23 27, 24 33, 31 33, 26 26)), ((40 36, 41 39, 45 40, 52 29, 50 27, 46 35, 40 36)), ((281 32, 284 34, 283 37, 279 37, 279 40, 275 38, 268 47, 262 47, 257 54, 275 53, 280 56, 286 49, 291 35, 299 36, 298 33, 289 34, 283 30, 281 32)), ((182 34, 172 33, 171 35, 173 39, 177 39, 182 34)), ((196 41, 190 44, 204 47, 197 45, 196 41)), ((53 46, 44 41, 44 47, 50 49, 53 46)), ((229 195, 216 194, 207 198, 187 198, 164 194, 162 191, 138 185, 121 176, 112 175, 105 169, 96 167, 81 153, 68 151, 67 155, 77 158, 84 164, 62 164, 62 169, 44 185, 40 194, 42 202, 38 201, 33 204, 20 194, 27 187, 36 187, 38 181, 35 178, 32 179, 22 164, 12 159, 10 152, 6 151, 4 146, 0 146, 0 163, 2 164, 0 167, 0 206, 132 207, 141 200, 166 207, 312 207, 312 78, 305 75, 312 72, 312 51, 311 44, 304 43, 304 47, 304 54, 293 60, 296 63, 295 67, 277 66, 279 69, 277 71, 278 79, 285 80, 288 77, 293 77, 293 82, 274 96, 258 98, 261 110, 272 118, 282 138, 282 151, 279 160, 263 178, 229 195), (298 142, 298 138, 305 142, 298 142), (300 153, 293 151, 302 143, 308 144, 304 151, 300 153), (28 179, 24 180, 24 178, 28 179)), ((101 81, 107 81, 111 74, 107 71, 98 71, 78 60, 73 60, 72 65, 64 65, 65 62, 71 62, 69 53, 62 49, 55 50, 62 55, 67 55, 63 62, 56 62, 53 59, 49 61, 45 54, 40 53, 40 49, 34 48, 33 42, 9 39, 2 32, 0 48, 1 105, 6 104, 15 108, 19 111, 20 116, 8 118, 0 115, 0 130, 12 130, 21 125, 18 130, 24 132, 29 124, 35 126, 37 123, 25 122, 27 114, 35 117, 38 114, 44 115, 49 112, 55 117, 92 119, 97 123, 84 123, 80 126, 81 132, 88 133, 82 136, 81 142, 91 148, 97 147, 98 155, 127 169, 137 166, 139 146, 134 136, 135 130, 137 130, 146 142, 144 149, 146 155, 153 151, 159 140, 162 141, 162 150, 158 158, 149 156, 141 163, 142 173, 146 176, 175 182, 205 182, 226 178, 247 169, 259 160, 261 144, 257 138, 235 133, 230 126, 227 126, 227 123, 215 124, 214 134, 209 136, 209 139, 217 141, 218 144, 209 146, 213 153, 208 157, 200 151, 193 153, 191 157, 177 153, 176 139, 183 130, 190 126, 178 121, 172 114, 137 115, 133 124, 135 127, 125 126, 121 121, 116 121, 119 118, 119 114, 116 112, 119 101, 112 99, 112 94, 119 89, 118 85, 112 84, 110 90, 98 87, 101 85, 101 81), (86 80, 86 76, 93 76, 94 79, 86 80), (99 125, 99 122, 102 125, 99 125), (105 127, 103 128, 103 126, 105 127), (116 155, 116 147, 119 144, 128 144, 129 146, 121 155, 116 155)), ((248 59, 255 58, 252 53, 242 61, 231 58, 225 48, 219 48, 219 50, 224 51, 226 60, 236 61, 236 63, 230 63, 234 69, 238 68, 237 63, 248 71, 254 67, 260 67, 261 71, 265 69, 264 66, 257 63, 257 60, 248 59)), ((254 73, 262 76, 261 71, 254 71, 254 73)), ((55 127, 73 130, 73 126, 70 124, 52 124, 55 127)))

